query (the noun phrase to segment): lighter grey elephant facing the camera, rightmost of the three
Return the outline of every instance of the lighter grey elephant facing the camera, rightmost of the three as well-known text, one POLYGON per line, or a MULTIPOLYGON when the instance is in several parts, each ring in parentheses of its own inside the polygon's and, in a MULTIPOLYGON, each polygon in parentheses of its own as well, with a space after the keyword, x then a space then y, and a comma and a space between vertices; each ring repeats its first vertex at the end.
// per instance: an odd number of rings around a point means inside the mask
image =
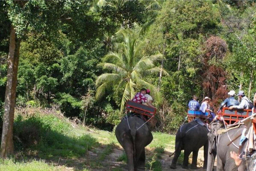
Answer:
MULTIPOLYGON (((239 128, 234 128, 228 132, 217 134, 217 130, 221 128, 222 124, 213 122, 210 125, 210 132, 208 133, 209 148, 208 148, 208 164, 207 171, 213 170, 214 160, 217 156, 217 171, 239 171, 243 166, 239 168, 236 166, 234 160, 230 157, 230 151, 238 153, 239 141, 242 130, 245 128, 241 125, 239 128), (239 136, 240 134, 240 136, 239 136), (229 139, 229 137, 230 139, 229 139), (235 139, 235 140, 234 140, 235 139), (231 142, 231 141, 233 142, 231 142), (235 145, 237 146, 235 146, 235 145)), ((243 169, 241 169, 243 170, 243 169)))

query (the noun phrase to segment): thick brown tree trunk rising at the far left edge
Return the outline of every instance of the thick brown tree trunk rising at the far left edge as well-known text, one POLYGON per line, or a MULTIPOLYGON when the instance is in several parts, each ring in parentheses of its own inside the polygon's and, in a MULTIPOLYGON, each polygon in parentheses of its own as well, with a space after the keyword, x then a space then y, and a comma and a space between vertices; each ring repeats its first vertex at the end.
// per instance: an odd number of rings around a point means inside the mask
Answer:
POLYGON ((4 102, 4 118, 3 118, 3 132, 1 139, 1 157, 14 152, 13 145, 13 122, 14 122, 14 109, 16 99, 18 63, 19 63, 19 47, 20 40, 15 39, 15 30, 11 26, 9 55, 7 61, 7 84, 5 90, 4 102))

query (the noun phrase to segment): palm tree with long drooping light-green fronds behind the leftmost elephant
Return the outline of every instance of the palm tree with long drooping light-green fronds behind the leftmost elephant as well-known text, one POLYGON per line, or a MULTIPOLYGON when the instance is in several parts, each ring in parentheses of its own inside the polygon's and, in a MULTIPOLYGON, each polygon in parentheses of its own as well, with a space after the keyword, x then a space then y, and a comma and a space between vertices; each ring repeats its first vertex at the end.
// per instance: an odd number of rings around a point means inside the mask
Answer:
MULTIPOLYGON (((143 56, 142 49, 147 45, 147 41, 140 40, 141 30, 120 29, 114 38, 115 52, 110 51, 102 58, 99 64, 104 69, 109 69, 111 73, 103 73, 97 77, 97 91, 95 98, 100 99, 106 90, 112 90, 114 85, 117 88, 115 93, 124 88, 121 111, 124 109, 125 102, 132 99, 136 88, 144 86, 151 90, 151 94, 156 100, 160 100, 157 87, 143 80, 145 76, 154 72, 159 72, 160 68, 154 65, 154 61, 164 58, 161 53, 151 56, 143 56)), ((166 71, 164 71, 167 74, 166 71)))

